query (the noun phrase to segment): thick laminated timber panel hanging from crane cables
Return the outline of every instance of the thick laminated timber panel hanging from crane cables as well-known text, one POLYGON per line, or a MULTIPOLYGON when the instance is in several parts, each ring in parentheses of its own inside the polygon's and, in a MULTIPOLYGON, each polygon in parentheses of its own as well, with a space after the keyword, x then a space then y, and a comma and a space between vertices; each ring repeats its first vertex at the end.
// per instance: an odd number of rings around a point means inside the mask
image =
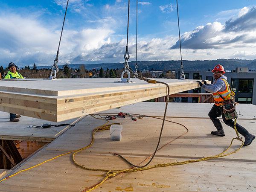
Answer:
MULTIPOLYGON (((159 80, 159 79, 157 79, 159 80)), ((0 81, 0 111, 60 122, 166 96, 163 84, 114 83, 119 79, 20 79, 0 81)), ((170 94, 198 88, 197 80, 161 79, 170 94)))

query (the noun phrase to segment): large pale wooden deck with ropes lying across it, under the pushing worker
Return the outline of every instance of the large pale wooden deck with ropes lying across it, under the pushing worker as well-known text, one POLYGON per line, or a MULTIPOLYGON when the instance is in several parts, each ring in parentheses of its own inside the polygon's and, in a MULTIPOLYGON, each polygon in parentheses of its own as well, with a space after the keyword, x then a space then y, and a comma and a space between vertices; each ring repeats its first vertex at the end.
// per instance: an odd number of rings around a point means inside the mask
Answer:
MULTIPOLYGON (((122 111, 161 116, 164 105, 164 103, 143 102, 107 112, 122 111)), ((224 125, 225 137, 209 134, 214 130, 212 122, 207 118, 207 111, 210 108, 209 104, 172 103, 167 116, 176 117, 168 119, 186 125, 189 132, 186 133, 186 129, 181 125, 166 122, 160 143, 160 147, 163 148, 160 148, 151 164, 206 157, 218 154, 227 148, 236 134, 226 125, 224 125), (182 134, 184 135, 179 137, 182 134)), ((253 134, 256 134, 256 119, 253 119, 256 115, 255 108, 254 105, 238 107, 242 115, 238 122, 253 134)), ((122 169, 129 166, 113 153, 123 154, 133 163, 138 164, 154 151, 161 120, 144 117, 135 122, 126 117, 111 122, 122 124, 122 140, 111 141, 109 131, 96 133, 93 146, 76 156, 79 163, 95 168, 122 169)), ((103 123, 102 120, 85 117, 75 127, 68 129, 17 167, 13 173, 89 144, 91 131, 103 123)), ((231 150, 239 145, 239 142, 235 142, 231 150)), ((236 154, 216 160, 121 174, 107 180, 94 191, 256 191, 255 147, 256 141, 250 146, 243 147, 236 154)), ((68 154, 3 181, 0 183, 0 191, 78 192, 102 180, 103 173, 87 171, 75 166, 71 155, 68 154)))

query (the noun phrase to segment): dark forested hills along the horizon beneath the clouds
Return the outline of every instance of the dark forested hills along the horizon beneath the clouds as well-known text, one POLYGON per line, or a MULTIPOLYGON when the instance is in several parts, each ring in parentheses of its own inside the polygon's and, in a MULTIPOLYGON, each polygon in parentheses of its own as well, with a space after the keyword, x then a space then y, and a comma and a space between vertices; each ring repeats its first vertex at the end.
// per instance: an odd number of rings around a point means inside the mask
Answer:
MULTIPOLYGON (((177 70, 180 69, 180 61, 138 61, 138 69, 143 70, 177 70)), ((188 61, 184 60, 183 65, 185 70, 209 70, 212 69, 216 64, 224 66, 225 70, 234 70, 236 67, 248 67, 249 70, 256 70, 256 60, 243 60, 243 59, 217 59, 217 60, 197 60, 188 61)), ((81 64, 69 64, 71 68, 79 69, 81 64)), ((129 65, 134 68, 135 61, 129 62, 129 65)), ((59 65, 62 68, 64 65, 59 65)), ((51 68, 52 66, 38 66, 41 68, 51 68)), ((124 65, 122 63, 101 63, 101 64, 84 64, 87 70, 100 69, 101 67, 106 70, 109 69, 122 69, 124 65)))

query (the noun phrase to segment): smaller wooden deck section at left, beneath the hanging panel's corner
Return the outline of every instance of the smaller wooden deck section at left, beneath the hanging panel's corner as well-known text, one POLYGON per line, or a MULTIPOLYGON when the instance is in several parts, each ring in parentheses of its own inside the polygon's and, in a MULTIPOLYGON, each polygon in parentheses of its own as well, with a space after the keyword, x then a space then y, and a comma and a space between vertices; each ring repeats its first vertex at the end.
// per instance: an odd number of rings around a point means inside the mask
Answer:
POLYGON ((28 128, 29 125, 41 126, 44 123, 72 124, 76 119, 70 119, 60 123, 52 123, 46 120, 35 119, 27 116, 21 116, 19 122, 9 122, 9 113, 0 111, 0 139, 1 140, 26 140, 51 142, 62 134, 69 126, 51 127, 51 128, 28 128))

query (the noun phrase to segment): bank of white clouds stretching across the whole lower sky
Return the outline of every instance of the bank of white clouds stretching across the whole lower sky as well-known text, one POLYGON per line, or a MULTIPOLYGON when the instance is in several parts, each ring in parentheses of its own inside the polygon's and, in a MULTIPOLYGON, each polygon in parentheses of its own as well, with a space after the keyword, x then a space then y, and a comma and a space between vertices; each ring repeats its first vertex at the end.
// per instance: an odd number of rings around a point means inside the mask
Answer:
MULTIPOLYGON (((119 24, 124 23, 117 17, 118 13, 123 14, 123 9, 126 8, 109 4, 102 9, 112 15, 87 20, 87 23, 94 23, 92 26, 64 29, 60 64, 124 61, 125 35, 116 31, 119 24)), ((56 29, 55 22, 44 24, 35 15, 25 17, 15 13, 0 14, 0 61, 5 66, 11 61, 23 66, 34 62, 37 65, 53 64, 60 29, 56 29)), ((185 32, 181 36, 183 59, 243 58, 244 55, 247 59, 255 58, 255 51, 252 50, 252 47, 256 47, 253 15, 255 16, 255 7, 243 8, 237 12, 236 17, 225 23, 207 23, 185 32)), ((135 60, 135 40, 135 36, 129 36, 130 61, 135 60)), ((178 48, 177 37, 151 38, 139 35, 138 60, 178 60, 178 48)))

